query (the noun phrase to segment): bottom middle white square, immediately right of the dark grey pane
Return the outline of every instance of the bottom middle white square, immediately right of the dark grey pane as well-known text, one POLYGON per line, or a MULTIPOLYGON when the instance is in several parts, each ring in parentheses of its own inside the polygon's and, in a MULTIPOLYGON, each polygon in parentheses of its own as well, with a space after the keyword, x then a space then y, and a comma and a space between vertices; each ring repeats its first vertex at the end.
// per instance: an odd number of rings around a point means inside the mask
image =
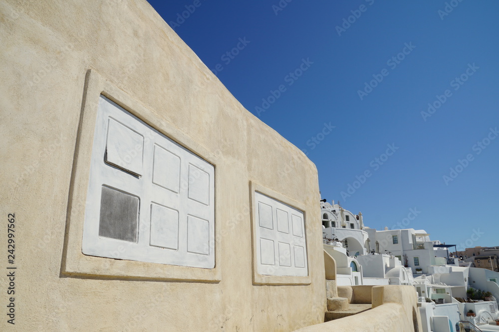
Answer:
POLYGON ((179 248, 179 212, 151 204, 151 245, 177 250, 179 248))

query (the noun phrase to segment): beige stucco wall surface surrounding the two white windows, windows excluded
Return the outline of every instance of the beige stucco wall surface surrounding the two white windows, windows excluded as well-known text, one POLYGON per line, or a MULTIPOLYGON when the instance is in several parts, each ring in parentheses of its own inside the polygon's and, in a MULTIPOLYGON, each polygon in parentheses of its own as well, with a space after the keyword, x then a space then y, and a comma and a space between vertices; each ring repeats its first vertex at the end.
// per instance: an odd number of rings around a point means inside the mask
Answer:
MULTIPOLYGON (((292 331, 323 321, 315 166, 246 111, 145 0, 0 1, 0 44, 1 224, 15 213, 16 225, 10 329, 292 331), (217 270, 210 282, 183 282, 196 274, 192 268, 172 267, 172 280, 163 277, 168 266, 83 257, 74 244, 81 211, 68 202, 84 193, 75 178, 87 171, 76 170, 74 158, 89 69, 134 111, 147 110, 155 127, 215 164, 217 270), (303 206, 308 282, 253 283, 250 183, 303 206)), ((6 230, 0 243, 6 260, 6 230)), ((1 273, 1 303, 6 285, 1 273)))

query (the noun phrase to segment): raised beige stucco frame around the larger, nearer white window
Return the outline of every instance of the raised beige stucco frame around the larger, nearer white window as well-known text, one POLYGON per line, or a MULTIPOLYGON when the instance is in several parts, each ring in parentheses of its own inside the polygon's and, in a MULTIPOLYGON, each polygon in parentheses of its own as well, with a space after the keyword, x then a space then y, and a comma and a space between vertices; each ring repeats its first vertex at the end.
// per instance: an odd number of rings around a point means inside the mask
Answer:
MULTIPOLYGON (((167 118, 160 116, 164 110, 151 110, 128 93, 118 89, 94 70, 88 70, 83 88, 83 101, 76 133, 76 148, 69 189, 69 201, 66 217, 66 239, 63 250, 61 274, 68 277, 80 276, 95 278, 109 276, 116 278, 143 278, 173 282, 218 283, 222 280, 221 255, 217 250, 217 238, 220 227, 215 227, 215 267, 213 269, 178 266, 170 264, 139 262, 124 259, 113 259, 84 255, 82 253, 82 235, 84 224, 85 202, 90 172, 91 149, 94 138, 95 121, 100 96, 104 96, 131 114, 137 116, 154 129, 168 136, 210 164, 220 163, 221 156, 206 149, 167 118)), ((215 177, 215 189, 217 178, 215 177)), ((216 192, 216 191, 215 191, 216 192)), ((216 203, 216 202, 215 202, 216 203)), ((217 220, 215 208, 215 220, 217 220)), ((124 250, 118 246, 116 252, 124 250)))

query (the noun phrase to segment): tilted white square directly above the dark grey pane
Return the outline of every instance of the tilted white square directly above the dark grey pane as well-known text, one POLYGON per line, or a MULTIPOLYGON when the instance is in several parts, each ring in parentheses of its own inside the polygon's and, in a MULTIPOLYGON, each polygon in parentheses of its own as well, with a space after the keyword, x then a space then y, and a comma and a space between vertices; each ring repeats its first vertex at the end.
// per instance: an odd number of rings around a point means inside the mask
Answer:
POLYGON ((144 137, 129 127, 109 118, 106 161, 127 171, 142 175, 144 137))

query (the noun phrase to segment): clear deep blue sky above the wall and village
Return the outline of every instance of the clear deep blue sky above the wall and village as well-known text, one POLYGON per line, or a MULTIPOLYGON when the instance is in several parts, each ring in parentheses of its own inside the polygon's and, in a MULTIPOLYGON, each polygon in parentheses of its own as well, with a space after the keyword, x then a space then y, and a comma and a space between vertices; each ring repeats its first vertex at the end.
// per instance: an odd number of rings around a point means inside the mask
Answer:
POLYGON ((499 1, 149 2, 248 111, 306 150, 322 198, 372 228, 499 245, 499 1))

